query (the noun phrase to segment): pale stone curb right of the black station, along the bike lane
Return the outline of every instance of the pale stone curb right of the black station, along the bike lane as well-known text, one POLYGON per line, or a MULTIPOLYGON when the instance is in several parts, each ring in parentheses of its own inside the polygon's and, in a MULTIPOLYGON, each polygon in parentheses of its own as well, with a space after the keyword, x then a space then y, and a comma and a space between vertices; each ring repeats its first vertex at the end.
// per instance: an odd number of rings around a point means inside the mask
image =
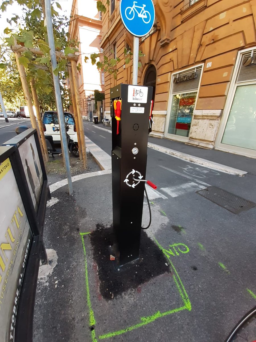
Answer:
POLYGON ((172 150, 170 148, 162 147, 162 146, 159 146, 156 144, 148 143, 147 147, 150 147, 156 151, 159 151, 159 152, 162 152, 165 154, 169 154, 175 158, 187 160, 191 163, 196 163, 198 165, 202 165, 202 166, 208 167, 210 169, 222 171, 225 173, 234 174, 234 175, 238 175, 238 176, 244 176, 247 173, 246 171, 234 169, 230 166, 222 165, 222 164, 219 164, 219 163, 216 163, 214 161, 207 160, 207 159, 191 156, 189 154, 179 152, 179 151, 175 151, 175 150, 172 150))

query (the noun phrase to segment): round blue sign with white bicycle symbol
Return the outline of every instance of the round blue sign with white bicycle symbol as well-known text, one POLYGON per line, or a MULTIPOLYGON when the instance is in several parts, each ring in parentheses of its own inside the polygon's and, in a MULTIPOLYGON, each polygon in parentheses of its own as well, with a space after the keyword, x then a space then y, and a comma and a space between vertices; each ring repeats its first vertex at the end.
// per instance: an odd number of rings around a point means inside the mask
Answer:
POLYGON ((143 37, 152 29, 155 8, 152 0, 120 0, 120 15, 125 28, 136 37, 143 37))

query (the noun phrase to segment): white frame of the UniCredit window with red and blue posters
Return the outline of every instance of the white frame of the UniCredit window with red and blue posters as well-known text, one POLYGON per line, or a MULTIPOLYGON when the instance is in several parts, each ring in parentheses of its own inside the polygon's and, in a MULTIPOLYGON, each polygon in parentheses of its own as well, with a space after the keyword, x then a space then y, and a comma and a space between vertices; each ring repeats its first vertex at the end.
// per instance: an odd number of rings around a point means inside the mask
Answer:
MULTIPOLYGON (((170 134, 168 133, 169 130, 169 123, 170 123, 170 118, 171 118, 171 108, 172 108, 172 97, 173 95, 177 95, 177 94, 186 94, 186 92, 183 93, 172 93, 172 89, 173 89, 173 78, 174 76, 176 76, 177 74, 183 73, 183 71, 187 71, 187 70, 193 70, 195 68, 198 68, 202 66, 202 70, 201 70, 201 75, 200 75, 200 79, 199 79, 199 84, 198 84, 198 90, 197 90, 197 96, 196 96, 196 101, 195 101, 195 107, 194 110, 196 109, 196 105, 197 105, 197 100, 198 100, 198 94, 199 94, 199 90, 200 90, 200 85, 201 85, 201 80, 202 80, 202 75, 203 75, 203 69, 204 69, 204 63, 200 63, 197 65, 193 65, 193 67, 189 67, 186 69, 181 69, 178 71, 174 71, 172 73, 171 76, 171 87, 170 87, 170 91, 169 91, 169 100, 168 100, 168 105, 167 105, 167 115, 166 115, 166 123, 165 123, 165 137, 169 138, 171 140, 176 140, 176 141, 181 141, 181 142, 188 142, 190 139, 190 130, 189 130, 189 136, 182 136, 182 135, 177 135, 177 134, 170 134)), ((191 92, 193 92, 195 90, 191 90, 191 92)), ((189 91, 190 92, 190 91, 189 91)), ((193 122, 194 119, 194 114, 192 115, 192 120, 191 120, 191 124, 193 122)))

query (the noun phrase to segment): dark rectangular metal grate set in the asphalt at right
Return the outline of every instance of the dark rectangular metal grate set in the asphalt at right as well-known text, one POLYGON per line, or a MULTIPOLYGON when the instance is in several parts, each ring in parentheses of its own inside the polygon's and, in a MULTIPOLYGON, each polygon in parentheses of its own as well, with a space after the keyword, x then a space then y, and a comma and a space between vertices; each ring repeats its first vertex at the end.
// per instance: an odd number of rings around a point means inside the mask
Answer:
POLYGON ((208 188, 198 190, 196 192, 234 214, 239 214, 241 211, 245 211, 256 206, 256 203, 247 201, 246 199, 231 194, 217 186, 209 186, 208 188))

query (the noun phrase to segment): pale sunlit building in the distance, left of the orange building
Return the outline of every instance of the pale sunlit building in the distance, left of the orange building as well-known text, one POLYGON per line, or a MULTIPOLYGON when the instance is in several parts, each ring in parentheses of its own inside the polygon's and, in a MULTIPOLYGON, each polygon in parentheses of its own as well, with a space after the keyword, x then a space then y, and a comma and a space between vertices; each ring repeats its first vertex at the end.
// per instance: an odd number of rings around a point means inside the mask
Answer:
POLYGON ((80 84, 80 99, 82 115, 85 119, 93 121, 95 111, 94 90, 104 92, 104 73, 101 73, 96 65, 91 64, 90 54, 100 53, 101 42, 101 13, 97 10, 96 0, 73 0, 69 34, 70 39, 78 39, 79 60, 81 65, 78 72, 80 84), (88 57, 88 61, 85 61, 88 57))

